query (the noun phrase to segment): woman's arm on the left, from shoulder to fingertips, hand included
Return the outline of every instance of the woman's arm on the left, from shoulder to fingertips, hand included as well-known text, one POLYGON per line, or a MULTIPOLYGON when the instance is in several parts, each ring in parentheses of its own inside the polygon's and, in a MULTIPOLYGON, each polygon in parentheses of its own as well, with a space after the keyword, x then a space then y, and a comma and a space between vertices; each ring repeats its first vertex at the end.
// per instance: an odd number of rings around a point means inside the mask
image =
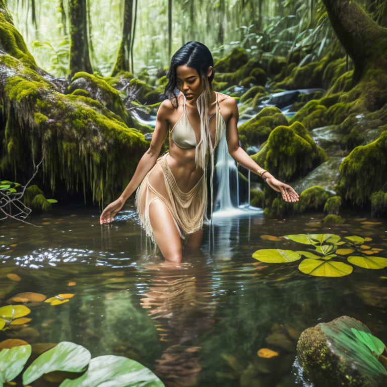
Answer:
POLYGON ((121 193, 120 197, 114 202, 110 203, 100 216, 100 224, 110 223, 113 221, 114 215, 122 208, 127 198, 132 195, 136 188, 140 185, 146 174, 154 167, 157 158, 159 157, 161 147, 167 136, 169 121, 167 117, 170 116, 173 106, 170 100, 164 100, 157 111, 156 126, 152 134, 152 141, 149 149, 144 153, 137 165, 136 171, 127 184, 126 188, 121 193))

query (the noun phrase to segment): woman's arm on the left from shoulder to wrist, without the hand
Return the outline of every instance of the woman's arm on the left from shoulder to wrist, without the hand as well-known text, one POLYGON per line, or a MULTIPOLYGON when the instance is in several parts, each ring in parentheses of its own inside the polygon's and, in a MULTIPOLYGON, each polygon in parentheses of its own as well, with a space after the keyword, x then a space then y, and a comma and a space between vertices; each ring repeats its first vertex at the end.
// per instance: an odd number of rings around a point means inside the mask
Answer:
POLYGON ((159 157, 161 151, 161 147, 167 136, 169 121, 166 117, 169 117, 172 108, 172 104, 168 99, 164 100, 160 104, 159 109, 157 111, 156 126, 152 134, 151 145, 149 146, 149 149, 144 153, 143 157, 140 159, 131 181, 127 184, 126 188, 121 193, 120 199, 122 199, 123 202, 126 202, 127 198, 132 195, 132 193, 143 181, 146 174, 156 164, 157 158, 159 157))

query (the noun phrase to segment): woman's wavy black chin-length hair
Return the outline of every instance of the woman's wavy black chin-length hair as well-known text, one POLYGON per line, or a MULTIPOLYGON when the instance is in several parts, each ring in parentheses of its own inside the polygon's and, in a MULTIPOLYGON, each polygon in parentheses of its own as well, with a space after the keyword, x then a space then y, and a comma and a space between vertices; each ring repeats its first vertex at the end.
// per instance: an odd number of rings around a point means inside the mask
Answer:
POLYGON ((165 97, 171 101, 174 99, 176 101, 176 107, 178 106, 177 96, 175 94, 175 89, 177 88, 176 67, 184 64, 196 69, 202 80, 207 78, 210 88, 215 74, 214 59, 206 45, 197 41, 189 41, 181 46, 171 58, 167 73, 168 83, 164 89, 165 97), (210 66, 212 66, 213 70, 210 77, 207 77, 207 71, 210 66))

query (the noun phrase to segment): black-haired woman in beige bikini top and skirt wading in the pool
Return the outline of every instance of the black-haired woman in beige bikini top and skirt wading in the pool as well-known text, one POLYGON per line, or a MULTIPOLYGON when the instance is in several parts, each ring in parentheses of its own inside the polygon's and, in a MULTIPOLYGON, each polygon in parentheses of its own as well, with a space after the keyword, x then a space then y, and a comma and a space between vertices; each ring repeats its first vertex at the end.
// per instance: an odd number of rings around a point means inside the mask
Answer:
POLYGON ((239 147, 236 101, 211 89, 214 62, 204 44, 189 41, 176 51, 167 78, 167 99, 157 112, 150 147, 121 196, 103 210, 100 223, 111 222, 141 183, 135 199, 140 223, 166 262, 180 263, 183 243, 185 248, 199 248, 202 243, 203 221, 208 220, 206 165, 210 159, 212 212, 214 151, 222 136, 229 154, 281 192, 285 201, 296 202, 298 195, 239 147), (168 130, 169 152, 158 157, 168 130))

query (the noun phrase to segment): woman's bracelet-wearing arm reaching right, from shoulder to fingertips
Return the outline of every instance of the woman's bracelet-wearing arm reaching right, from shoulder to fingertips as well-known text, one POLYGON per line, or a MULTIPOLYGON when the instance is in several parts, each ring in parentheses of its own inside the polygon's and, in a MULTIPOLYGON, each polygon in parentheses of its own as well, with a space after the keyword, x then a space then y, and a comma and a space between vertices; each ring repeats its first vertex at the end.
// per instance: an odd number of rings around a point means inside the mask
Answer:
POLYGON ((277 180, 269 171, 260 167, 240 146, 237 123, 239 119, 238 106, 234 98, 227 98, 224 101, 225 108, 228 107, 230 118, 226 126, 226 139, 228 153, 243 167, 251 172, 260 175, 274 190, 282 193, 282 199, 286 202, 297 202, 298 193, 289 185, 277 180))

